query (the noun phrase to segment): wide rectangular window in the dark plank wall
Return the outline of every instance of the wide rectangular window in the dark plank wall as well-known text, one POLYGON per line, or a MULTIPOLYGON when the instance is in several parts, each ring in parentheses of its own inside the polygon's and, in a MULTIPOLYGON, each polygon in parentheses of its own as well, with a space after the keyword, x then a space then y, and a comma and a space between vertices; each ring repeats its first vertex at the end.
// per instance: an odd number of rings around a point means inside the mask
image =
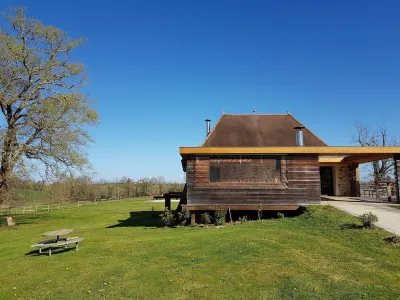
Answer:
POLYGON ((210 182, 279 183, 280 159, 212 159, 210 182))

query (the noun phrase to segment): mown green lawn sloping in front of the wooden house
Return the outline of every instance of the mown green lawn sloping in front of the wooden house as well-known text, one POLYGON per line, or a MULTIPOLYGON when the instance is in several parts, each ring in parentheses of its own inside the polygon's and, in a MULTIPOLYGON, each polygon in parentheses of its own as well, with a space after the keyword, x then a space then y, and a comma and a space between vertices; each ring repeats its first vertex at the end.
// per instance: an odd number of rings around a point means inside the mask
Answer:
POLYGON ((142 200, 21 216, 0 229, 0 299, 399 299, 400 247, 329 206, 223 228, 160 228, 142 200), (130 218, 130 212, 133 212, 130 218), (121 222, 122 221, 122 222, 121 222), (79 252, 25 255, 74 228, 79 252))

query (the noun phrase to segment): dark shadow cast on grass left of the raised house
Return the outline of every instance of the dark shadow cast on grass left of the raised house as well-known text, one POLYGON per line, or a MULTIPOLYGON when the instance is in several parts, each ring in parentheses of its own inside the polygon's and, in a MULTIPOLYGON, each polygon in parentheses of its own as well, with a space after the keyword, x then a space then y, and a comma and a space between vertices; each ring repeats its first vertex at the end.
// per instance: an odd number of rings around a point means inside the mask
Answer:
POLYGON ((108 226, 115 227, 164 227, 159 219, 161 211, 132 211, 126 220, 118 220, 118 224, 108 226))

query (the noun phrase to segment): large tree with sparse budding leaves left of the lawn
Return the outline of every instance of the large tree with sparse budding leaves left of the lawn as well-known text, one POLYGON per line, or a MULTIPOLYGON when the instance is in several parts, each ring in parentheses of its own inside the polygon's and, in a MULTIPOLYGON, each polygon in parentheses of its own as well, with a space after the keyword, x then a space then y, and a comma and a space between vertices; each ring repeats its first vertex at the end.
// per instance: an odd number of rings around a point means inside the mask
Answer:
POLYGON ((84 66, 71 61, 83 40, 27 18, 24 8, 3 16, 9 26, 0 30, 0 191, 27 160, 43 164, 46 174, 83 170, 92 141, 86 128, 98 120, 81 92, 84 66))

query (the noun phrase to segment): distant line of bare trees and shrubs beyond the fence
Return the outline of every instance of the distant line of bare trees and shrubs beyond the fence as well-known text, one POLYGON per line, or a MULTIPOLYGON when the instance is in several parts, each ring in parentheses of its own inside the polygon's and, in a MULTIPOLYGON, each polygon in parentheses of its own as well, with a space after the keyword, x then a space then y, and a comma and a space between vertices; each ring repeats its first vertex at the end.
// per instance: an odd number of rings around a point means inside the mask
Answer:
POLYGON ((17 202, 71 202, 94 201, 96 199, 124 199, 161 195, 172 191, 182 191, 183 183, 167 182, 164 177, 142 178, 134 181, 127 177, 119 180, 94 181, 89 177, 68 178, 54 183, 33 180, 13 180, 10 197, 17 202))

